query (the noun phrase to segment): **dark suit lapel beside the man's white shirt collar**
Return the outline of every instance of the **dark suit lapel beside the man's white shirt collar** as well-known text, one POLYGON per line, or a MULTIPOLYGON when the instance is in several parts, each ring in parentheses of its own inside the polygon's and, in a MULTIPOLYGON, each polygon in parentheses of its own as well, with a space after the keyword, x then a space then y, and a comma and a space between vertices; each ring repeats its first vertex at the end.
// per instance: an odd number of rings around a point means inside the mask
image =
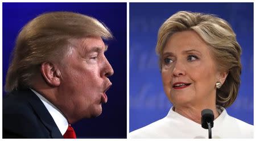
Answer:
POLYGON ((56 123, 54 122, 51 114, 44 106, 43 102, 40 100, 36 94, 34 94, 31 90, 27 92, 28 101, 30 102, 31 106, 35 110, 35 113, 38 114, 38 117, 49 130, 52 138, 63 138, 59 128, 57 127, 56 123))

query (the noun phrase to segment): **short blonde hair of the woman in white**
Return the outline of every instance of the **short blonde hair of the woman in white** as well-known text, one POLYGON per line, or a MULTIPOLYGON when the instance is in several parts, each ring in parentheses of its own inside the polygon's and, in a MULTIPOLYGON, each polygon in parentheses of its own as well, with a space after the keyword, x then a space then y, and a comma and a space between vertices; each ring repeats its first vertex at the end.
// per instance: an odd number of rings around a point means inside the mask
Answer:
POLYGON ((240 86, 241 47, 236 34, 224 19, 214 15, 179 11, 168 18, 158 32, 156 53, 159 55, 159 66, 162 69, 162 53, 167 40, 175 32, 193 30, 209 44, 218 70, 228 72, 224 84, 216 92, 216 104, 224 107, 236 100, 240 86))

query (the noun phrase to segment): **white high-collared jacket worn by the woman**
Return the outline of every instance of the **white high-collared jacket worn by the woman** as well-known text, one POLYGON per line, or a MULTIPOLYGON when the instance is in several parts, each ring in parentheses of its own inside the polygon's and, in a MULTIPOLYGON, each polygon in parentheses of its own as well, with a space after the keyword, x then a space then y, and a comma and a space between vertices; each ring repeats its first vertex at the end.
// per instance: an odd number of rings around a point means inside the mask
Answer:
MULTIPOLYGON (((222 112, 214 120, 212 138, 253 138, 252 125, 230 117, 224 107, 218 106, 222 112)), ((130 138, 208 138, 208 130, 199 123, 185 118, 174 110, 166 117, 139 128, 129 134, 130 138)))

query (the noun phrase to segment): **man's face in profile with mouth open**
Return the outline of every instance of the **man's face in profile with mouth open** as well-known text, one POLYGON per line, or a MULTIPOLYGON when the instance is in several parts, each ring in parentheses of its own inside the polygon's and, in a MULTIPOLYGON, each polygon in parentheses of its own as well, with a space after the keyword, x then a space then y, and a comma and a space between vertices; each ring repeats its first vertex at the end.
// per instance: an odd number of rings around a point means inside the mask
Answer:
MULTIPOLYGON (((106 90, 112 85, 108 76, 113 69, 106 59, 105 44, 100 37, 72 40, 73 44, 61 65, 61 110, 68 119, 97 117, 102 103, 108 98, 106 90), (67 115, 66 115, 67 116, 67 115)), ((72 122, 72 121, 69 121, 72 122)))

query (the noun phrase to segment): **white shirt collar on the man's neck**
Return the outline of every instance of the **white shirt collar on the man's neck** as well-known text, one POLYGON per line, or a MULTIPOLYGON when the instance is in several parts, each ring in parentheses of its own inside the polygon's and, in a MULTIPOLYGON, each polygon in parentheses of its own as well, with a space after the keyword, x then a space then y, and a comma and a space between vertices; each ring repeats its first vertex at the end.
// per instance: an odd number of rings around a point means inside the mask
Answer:
MULTIPOLYGON (((30 88, 31 89, 31 88, 30 88)), ((35 90, 31 89, 32 92, 34 92, 36 94, 36 96, 38 96, 40 98, 40 100, 44 103, 44 106, 46 106, 46 109, 49 111, 49 113, 51 114, 53 120, 55 121, 57 127, 59 128, 60 132, 62 135, 65 134, 65 132, 68 129, 68 121, 65 118, 65 116, 63 115, 63 113, 61 113, 61 111, 59 109, 57 109, 56 106, 54 106, 51 102, 49 102, 46 98, 44 98, 41 94, 39 94, 38 92, 36 92, 35 90)))

